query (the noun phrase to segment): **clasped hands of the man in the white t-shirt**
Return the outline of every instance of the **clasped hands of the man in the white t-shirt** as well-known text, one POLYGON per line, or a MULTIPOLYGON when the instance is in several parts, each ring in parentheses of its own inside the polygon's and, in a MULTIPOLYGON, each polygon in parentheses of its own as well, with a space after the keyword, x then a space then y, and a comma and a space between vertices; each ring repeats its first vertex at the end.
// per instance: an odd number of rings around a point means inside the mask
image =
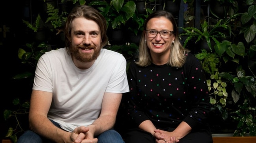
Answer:
POLYGON ((93 137, 89 127, 80 126, 73 130, 70 139, 73 143, 97 143, 98 139, 93 137))

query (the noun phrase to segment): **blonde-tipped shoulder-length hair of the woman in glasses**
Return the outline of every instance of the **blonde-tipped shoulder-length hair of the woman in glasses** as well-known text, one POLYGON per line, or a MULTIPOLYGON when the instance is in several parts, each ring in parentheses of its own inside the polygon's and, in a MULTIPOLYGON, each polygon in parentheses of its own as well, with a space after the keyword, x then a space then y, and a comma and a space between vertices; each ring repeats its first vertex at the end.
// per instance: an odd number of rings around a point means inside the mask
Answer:
POLYGON ((187 52, 189 52, 189 49, 185 49, 179 42, 178 26, 176 24, 174 16, 171 13, 169 13, 168 11, 164 11, 164 10, 155 11, 155 12, 149 14, 148 18, 145 20, 144 32, 142 33, 142 36, 140 38, 139 54, 138 54, 138 60, 136 61, 136 63, 142 67, 151 65, 152 61, 151 61, 149 48, 147 47, 147 44, 145 42, 145 39, 146 39, 145 37, 147 36, 145 30, 146 30, 148 21, 151 18, 159 18, 159 17, 164 17, 164 18, 167 18, 168 20, 170 20, 170 22, 172 22, 172 25, 174 28, 173 34, 175 36, 175 40, 174 40, 174 43, 172 43, 171 47, 170 47, 171 52, 170 52, 170 56, 169 56, 167 65, 170 65, 172 67, 182 67, 186 60, 185 54, 187 52))

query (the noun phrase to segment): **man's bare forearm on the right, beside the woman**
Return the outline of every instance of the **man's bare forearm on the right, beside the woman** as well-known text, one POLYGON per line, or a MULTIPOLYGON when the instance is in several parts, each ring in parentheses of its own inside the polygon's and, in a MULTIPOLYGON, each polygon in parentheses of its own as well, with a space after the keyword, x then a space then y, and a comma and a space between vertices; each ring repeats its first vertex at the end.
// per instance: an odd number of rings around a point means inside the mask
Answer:
POLYGON ((89 132, 92 132, 94 136, 97 136, 114 127, 121 98, 121 93, 105 92, 102 101, 101 114, 92 125, 88 126, 90 128, 89 132))

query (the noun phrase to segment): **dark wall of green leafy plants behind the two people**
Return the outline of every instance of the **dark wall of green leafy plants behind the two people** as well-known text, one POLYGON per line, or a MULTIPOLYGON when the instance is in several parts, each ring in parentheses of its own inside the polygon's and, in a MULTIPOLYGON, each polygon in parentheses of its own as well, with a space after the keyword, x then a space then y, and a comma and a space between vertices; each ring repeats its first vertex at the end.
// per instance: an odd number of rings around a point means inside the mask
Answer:
MULTIPOLYGON (((256 134, 255 0, 200 0, 200 27, 196 27, 198 21, 195 21, 198 18, 195 10, 199 0, 27 1, 30 2, 27 5, 30 9, 29 16, 21 19, 22 26, 26 27, 22 36, 24 40, 19 49, 10 54, 17 55, 17 59, 22 63, 21 70, 13 75, 13 79, 30 79, 31 83, 38 58, 46 51, 65 46, 63 26, 73 6, 91 5, 105 16, 109 43, 104 48, 123 54, 128 66, 129 61, 137 54, 144 20, 148 14, 155 10, 169 10, 171 5, 166 5, 167 1, 176 2, 178 5, 183 2, 184 16, 176 16, 184 21, 184 25, 180 27, 183 31, 180 36, 184 47, 191 49, 202 61, 208 79, 213 112, 220 114, 222 121, 231 119, 232 123, 235 123, 235 131, 232 131, 235 136, 256 134), (138 9, 139 2, 144 6, 142 10, 138 9), (223 10, 223 15, 214 11, 215 5, 219 5, 219 12, 223 10), (117 30, 123 32, 123 38, 116 42, 112 36, 116 35, 113 33, 117 30), (202 48, 203 43, 208 47, 202 48)), ((31 83, 26 90, 31 90, 31 83)), ((30 95, 26 95, 25 99, 23 94, 11 96, 14 100, 10 102, 14 105, 4 111, 7 122, 10 118, 16 118, 18 113, 27 114, 29 108, 30 95)), ((16 119, 13 123, 14 125, 8 124, 10 127, 6 137, 15 142, 24 128, 16 119)))

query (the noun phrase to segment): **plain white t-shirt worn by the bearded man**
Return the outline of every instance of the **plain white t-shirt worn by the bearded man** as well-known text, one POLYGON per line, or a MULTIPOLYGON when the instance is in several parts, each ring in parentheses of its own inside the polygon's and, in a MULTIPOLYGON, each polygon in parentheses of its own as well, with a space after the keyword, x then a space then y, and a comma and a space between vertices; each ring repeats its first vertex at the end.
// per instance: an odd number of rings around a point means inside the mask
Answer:
POLYGON ((52 92, 48 118, 72 132, 88 126, 99 117, 105 92, 129 91, 126 60, 122 54, 107 49, 92 67, 78 69, 65 48, 46 52, 37 63, 34 90, 52 92))

